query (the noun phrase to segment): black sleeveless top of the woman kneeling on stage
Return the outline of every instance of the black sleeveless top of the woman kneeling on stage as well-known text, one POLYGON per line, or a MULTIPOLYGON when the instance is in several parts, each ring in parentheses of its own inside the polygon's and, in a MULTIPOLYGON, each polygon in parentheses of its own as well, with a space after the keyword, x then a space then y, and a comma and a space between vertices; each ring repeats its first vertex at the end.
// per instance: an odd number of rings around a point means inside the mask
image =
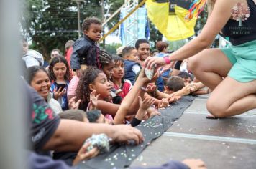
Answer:
POLYGON ((247 14, 249 17, 237 19, 237 21, 229 19, 227 24, 221 30, 222 34, 224 34, 224 37, 229 37, 229 41, 233 45, 244 44, 246 42, 256 40, 256 4, 253 0, 247 0, 247 3, 250 11, 241 11, 239 8, 242 8, 242 6, 239 7, 236 4, 238 9, 233 7, 232 14, 234 14, 236 18, 238 13, 247 14))

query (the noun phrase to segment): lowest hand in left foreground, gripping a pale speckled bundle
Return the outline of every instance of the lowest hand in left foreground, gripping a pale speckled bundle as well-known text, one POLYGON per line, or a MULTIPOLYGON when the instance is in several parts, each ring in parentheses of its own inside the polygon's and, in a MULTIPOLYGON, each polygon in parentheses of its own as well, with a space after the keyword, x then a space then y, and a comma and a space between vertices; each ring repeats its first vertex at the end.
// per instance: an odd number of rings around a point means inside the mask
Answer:
POLYGON ((88 160, 90 158, 94 158, 96 155, 99 154, 98 148, 93 148, 90 151, 86 149, 90 146, 90 143, 86 143, 83 145, 80 150, 78 151, 78 155, 76 155, 75 160, 73 160, 73 165, 77 165, 82 160, 88 160))

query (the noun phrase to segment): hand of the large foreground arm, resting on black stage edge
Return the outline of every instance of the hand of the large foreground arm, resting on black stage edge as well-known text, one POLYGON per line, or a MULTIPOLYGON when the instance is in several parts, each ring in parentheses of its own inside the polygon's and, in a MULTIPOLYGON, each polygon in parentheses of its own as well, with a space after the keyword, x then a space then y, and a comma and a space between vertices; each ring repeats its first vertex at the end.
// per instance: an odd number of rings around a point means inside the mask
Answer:
POLYGON ((113 125, 113 139, 114 142, 119 143, 135 143, 136 145, 142 143, 144 138, 142 132, 137 128, 129 125, 113 125))

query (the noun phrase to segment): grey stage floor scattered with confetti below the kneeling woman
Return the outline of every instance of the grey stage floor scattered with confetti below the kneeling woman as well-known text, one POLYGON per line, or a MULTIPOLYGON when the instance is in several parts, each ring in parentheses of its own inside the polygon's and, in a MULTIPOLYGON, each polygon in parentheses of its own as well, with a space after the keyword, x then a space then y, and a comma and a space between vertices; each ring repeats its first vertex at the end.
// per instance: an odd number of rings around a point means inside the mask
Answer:
POLYGON ((206 119, 207 96, 191 107, 161 137, 153 141, 132 166, 201 158, 207 168, 256 168, 256 110, 221 120, 206 119))

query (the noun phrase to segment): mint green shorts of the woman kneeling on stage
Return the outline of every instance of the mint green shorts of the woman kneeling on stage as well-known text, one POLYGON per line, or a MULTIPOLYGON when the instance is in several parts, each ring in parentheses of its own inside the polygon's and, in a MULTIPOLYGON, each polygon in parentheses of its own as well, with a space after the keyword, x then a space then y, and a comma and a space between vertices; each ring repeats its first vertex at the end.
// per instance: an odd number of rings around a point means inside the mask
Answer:
POLYGON ((256 79, 256 40, 222 48, 221 51, 233 64, 229 77, 238 82, 251 82, 256 79))

